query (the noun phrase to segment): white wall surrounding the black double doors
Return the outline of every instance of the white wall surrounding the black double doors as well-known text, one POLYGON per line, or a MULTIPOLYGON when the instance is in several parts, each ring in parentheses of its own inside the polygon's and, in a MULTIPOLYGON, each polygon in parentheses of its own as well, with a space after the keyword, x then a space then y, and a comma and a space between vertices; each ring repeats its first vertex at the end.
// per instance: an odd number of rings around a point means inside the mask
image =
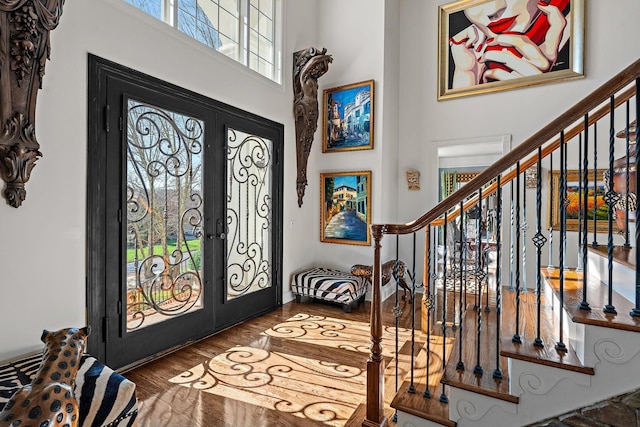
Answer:
MULTIPOLYGON (((84 325, 87 176, 87 54, 285 125, 284 223, 317 229, 312 196, 297 208, 292 53, 317 40, 316 0, 285 1, 282 86, 171 31, 116 0, 67 2, 52 32, 51 61, 38 96, 43 158, 19 209, 0 203, 0 360, 41 347, 42 329, 84 325), (293 207, 295 206, 295 209, 293 207)), ((312 262, 309 236, 285 227, 284 281, 312 262)), ((289 292, 285 301, 291 299, 289 292)))

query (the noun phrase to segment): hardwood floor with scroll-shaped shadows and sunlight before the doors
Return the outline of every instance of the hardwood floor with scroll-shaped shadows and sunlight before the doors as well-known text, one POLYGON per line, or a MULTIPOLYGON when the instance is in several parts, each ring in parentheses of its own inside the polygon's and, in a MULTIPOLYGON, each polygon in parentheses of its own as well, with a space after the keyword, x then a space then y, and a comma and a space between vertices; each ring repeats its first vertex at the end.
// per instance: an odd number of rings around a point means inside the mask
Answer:
MULTIPOLYGON (((420 298, 416 329, 420 330, 420 298)), ((392 296, 383 303, 383 355, 395 353, 392 296)), ((400 363, 410 363, 411 305, 400 300, 400 363)), ((419 332, 416 332, 419 335, 419 332)), ((424 343, 413 349, 417 354, 424 343)), ((140 427, 356 426, 364 418, 369 303, 351 313, 291 302, 125 373, 137 385, 140 427), (354 415, 354 412, 356 413, 354 415)), ((395 365, 387 367, 387 405, 395 365)), ((392 409, 387 408, 389 417, 392 409)))

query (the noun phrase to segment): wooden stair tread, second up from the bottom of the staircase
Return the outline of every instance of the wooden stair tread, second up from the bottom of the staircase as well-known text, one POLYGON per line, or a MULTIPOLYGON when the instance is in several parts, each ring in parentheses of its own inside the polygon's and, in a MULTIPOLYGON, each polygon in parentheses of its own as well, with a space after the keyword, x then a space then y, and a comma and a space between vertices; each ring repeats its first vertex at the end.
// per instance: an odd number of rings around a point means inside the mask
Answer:
POLYGON ((497 328, 495 310, 485 312, 484 309, 482 309, 482 328, 480 331, 482 351, 480 352, 480 366, 483 368, 484 372, 482 375, 476 375, 473 373, 474 368, 477 365, 477 316, 478 312, 474 310, 473 305, 468 305, 463 315, 462 330, 457 329, 455 331, 455 335, 457 335, 456 341, 458 339, 462 339, 463 342, 462 362, 464 363, 465 369, 464 371, 456 369, 458 360, 460 360, 459 347, 456 345, 447 362, 447 367, 442 377, 442 383, 450 387, 456 387, 508 402, 518 403, 518 397, 509 394, 507 360, 505 358, 499 359, 500 369, 502 370, 502 379, 494 379, 493 371, 496 368, 495 345, 491 345, 493 348, 487 349, 487 346, 482 344, 491 342, 495 343, 495 331, 497 328))

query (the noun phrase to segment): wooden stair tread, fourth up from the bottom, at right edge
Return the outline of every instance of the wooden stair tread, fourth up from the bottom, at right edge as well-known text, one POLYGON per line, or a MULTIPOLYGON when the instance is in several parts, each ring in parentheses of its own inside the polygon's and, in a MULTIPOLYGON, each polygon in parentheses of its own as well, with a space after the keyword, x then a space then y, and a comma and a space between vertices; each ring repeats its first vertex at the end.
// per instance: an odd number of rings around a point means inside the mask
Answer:
MULTIPOLYGON (((541 269, 542 275, 553 289, 555 295, 560 293, 560 270, 541 269)), ((587 302, 591 310, 581 310, 583 274, 573 269, 564 271, 564 308, 575 323, 602 326, 605 328, 621 329, 640 332, 640 318, 629 315, 635 304, 618 294, 612 294, 612 303, 618 314, 603 311, 604 304, 609 300, 609 289, 606 285, 594 280, 587 281, 587 302)))

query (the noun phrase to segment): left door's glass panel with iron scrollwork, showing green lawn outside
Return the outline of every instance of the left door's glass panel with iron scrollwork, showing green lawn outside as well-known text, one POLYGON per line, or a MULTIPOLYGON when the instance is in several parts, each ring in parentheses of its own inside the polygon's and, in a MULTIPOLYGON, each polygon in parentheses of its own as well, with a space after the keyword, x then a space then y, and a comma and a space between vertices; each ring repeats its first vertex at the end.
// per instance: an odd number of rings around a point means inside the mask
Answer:
POLYGON ((203 308, 204 122, 129 99, 127 332, 203 308))

